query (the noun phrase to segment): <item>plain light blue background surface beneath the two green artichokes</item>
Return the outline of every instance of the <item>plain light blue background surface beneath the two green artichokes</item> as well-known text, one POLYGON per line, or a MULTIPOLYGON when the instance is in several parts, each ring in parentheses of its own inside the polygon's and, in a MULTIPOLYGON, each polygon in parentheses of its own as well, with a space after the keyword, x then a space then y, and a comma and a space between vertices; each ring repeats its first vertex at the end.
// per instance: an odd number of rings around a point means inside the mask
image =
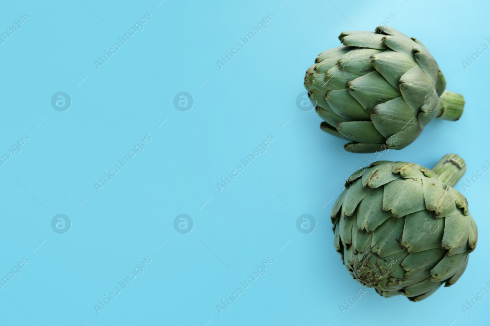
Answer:
POLYGON ((389 25, 429 48, 466 110, 381 159, 431 168, 455 152, 464 178, 490 167, 490 50, 462 64, 490 45, 488 1, 282 1, 2 4, 2 31, 28 15, 0 44, 0 152, 12 149, 0 167, 0 275, 12 271, 2 325, 489 324, 490 295, 466 314, 462 305, 490 290, 490 173, 466 192, 456 186, 480 230, 458 283, 420 303, 366 289, 342 313, 362 286, 332 250, 331 199, 370 155, 344 152, 314 111, 296 106, 319 52, 393 13, 389 25), (235 55, 220 69, 227 51, 235 55), (57 92, 69 109, 57 95, 53 108, 57 92), (180 92, 193 100, 174 100, 180 92), (52 222, 58 214, 68 218, 52 222), (296 227, 303 214, 316 221, 309 234, 296 227), (235 301, 218 309, 228 295, 235 301))

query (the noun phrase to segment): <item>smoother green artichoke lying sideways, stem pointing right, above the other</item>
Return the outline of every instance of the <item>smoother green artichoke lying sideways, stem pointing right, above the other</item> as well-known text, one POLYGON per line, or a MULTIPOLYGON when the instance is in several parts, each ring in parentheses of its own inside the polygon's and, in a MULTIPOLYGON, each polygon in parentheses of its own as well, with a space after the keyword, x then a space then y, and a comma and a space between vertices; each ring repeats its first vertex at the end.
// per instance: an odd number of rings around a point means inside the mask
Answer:
POLYGON ((339 46, 319 54, 304 86, 321 130, 348 141, 348 152, 402 149, 434 117, 456 121, 463 95, 446 91, 430 52, 388 26, 343 32, 339 46))

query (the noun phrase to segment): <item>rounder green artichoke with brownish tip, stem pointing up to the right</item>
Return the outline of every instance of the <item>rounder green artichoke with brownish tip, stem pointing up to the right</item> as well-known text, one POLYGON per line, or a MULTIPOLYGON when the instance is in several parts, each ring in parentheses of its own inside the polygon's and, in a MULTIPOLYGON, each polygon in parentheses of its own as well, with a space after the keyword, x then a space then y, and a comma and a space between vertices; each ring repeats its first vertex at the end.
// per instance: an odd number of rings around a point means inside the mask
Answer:
POLYGON ((352 277, 411 301, 456 283, 478 239, 465 196, 452 188, 465 171, 461 157, 447 154, 433 170, 378 161, 352 174, 331 215, 352 277))

